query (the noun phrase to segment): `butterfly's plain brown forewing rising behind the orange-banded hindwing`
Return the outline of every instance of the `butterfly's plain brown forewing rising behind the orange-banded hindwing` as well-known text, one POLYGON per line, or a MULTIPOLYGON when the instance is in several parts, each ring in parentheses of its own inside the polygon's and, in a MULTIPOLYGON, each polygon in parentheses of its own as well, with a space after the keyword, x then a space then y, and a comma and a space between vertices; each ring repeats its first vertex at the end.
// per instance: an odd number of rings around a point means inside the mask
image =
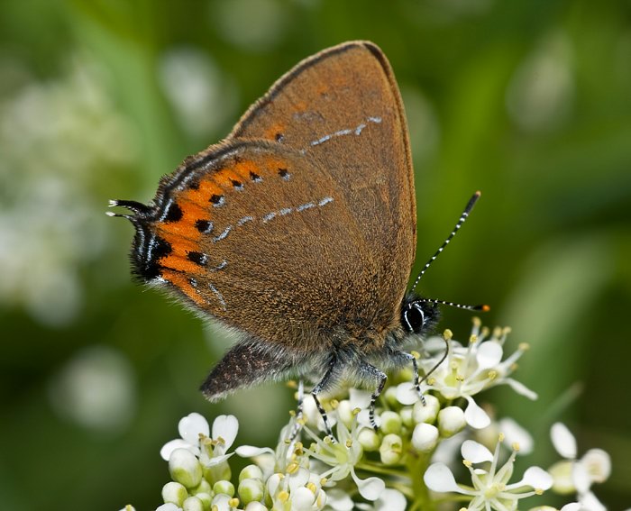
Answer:
POLYGON ((377 261, 380 296, 398 306, 414 262, 416 201, 405 113, 383 52, 354 41, 303 60, 231 137, 278 141, 326 169, 377 261))

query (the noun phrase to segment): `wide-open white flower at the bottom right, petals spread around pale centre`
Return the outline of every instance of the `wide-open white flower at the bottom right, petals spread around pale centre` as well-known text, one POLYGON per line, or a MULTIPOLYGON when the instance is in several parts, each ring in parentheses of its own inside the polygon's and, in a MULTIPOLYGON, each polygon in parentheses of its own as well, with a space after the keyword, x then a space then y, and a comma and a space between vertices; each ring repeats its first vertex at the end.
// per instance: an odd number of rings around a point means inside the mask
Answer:
POLYGON ((471 473, 473 488, 456 483, 452 470, 444 463, 434 463, 425 471, 424 480, 427 488, 438 492, 455 492, 471 497, 467 506, 470 511, 479 509, 498 509, 507 511, 517 509, 520 498, 540 495, 551 488, 553 479, 550 474, 539 467, 530 467, 524 472, 524 477, 512 484, 508 480, 513 475, 513 465, 518 452, 518 446, 513 447, 508 461, 498 467, 500 435, 495 452, 490 452, 481 443, 467 440, 462 443, 462 458, 464 465, 471 473), (488 469, 474 468, 480 463, 489 464, 488 469))

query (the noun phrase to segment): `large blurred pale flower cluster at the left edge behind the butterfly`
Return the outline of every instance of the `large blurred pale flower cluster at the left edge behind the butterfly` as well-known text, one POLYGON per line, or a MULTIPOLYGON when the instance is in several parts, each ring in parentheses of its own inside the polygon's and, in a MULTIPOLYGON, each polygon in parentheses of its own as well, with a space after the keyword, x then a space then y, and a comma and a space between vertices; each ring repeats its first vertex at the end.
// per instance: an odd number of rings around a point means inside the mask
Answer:
POLYGON ((0 304, 44 324, 80 310, 80 270, 105 245, 94 190, 134 160, 132 129, 86 57, 0 100, 0 304))

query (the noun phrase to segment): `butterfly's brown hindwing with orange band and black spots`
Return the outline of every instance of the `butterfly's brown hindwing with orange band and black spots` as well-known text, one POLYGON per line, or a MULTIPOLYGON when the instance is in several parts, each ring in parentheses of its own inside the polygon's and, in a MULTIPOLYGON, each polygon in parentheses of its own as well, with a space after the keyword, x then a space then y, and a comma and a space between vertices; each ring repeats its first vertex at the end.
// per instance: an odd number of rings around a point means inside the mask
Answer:
POLYGON ((322 350, 395 320, 364 226, 307 154, 267 141, 212 146, 161 183, 156 204, 139 260, 226 324, 322 350))

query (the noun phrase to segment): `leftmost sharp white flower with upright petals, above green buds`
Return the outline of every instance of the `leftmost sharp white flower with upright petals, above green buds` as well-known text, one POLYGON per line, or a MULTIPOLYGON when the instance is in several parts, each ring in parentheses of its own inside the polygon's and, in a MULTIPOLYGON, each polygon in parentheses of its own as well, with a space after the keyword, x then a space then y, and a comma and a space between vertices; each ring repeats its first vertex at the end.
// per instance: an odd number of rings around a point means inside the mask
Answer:
POLYGON ((165 443, 160 449, 163 460, 169 461, 176 449, 186 449, 199 458, 205 467, 214 467, 226 461, 233 453, 226 454, 239 431, 239 421, 234 415, 219 415, 213 422, 213 434, 206 419, 193 412, 178 424, 181 438, 165 443))

